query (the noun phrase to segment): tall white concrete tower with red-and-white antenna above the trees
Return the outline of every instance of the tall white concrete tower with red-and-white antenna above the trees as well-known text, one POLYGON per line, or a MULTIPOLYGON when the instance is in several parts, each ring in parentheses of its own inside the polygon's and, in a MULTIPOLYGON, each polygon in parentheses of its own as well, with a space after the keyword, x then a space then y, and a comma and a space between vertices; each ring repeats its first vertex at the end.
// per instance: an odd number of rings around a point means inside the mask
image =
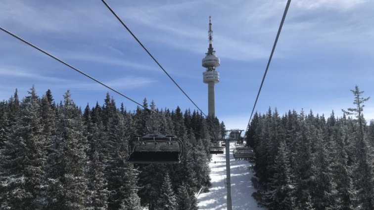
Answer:
POLYGON ((220 73, 216 71, 216 67, 220 66, 220 58, 215 55, 213 50, 213 31, 212 18, 209 16, 209 48, 205 53, 205 58, 202 59, 202 66, 206 68, 203 73, 203 81, 208 84, 208 114, 209 116, 216 116, 216 108, 214 102, 214 84, 220 82, 220 73))

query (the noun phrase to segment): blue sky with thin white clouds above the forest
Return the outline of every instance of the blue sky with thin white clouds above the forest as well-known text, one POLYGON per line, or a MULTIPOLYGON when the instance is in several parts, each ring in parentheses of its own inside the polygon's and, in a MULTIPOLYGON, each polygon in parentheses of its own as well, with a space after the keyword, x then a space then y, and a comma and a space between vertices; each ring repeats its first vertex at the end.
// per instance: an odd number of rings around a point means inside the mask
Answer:
MULTIPOLYGON (((216 115, 245 129, 286 0, 107 0, 150 53, 208 114, 201 66, 212 16, 221 59, 216 115)), ((374 97, 374 1, 292 0, 255 111, 269 107, 330 116, 354 107, 351 89, 374 97)), ((1 0, 0 26, 142 103, 196 109, 100 0, 1 0)), ((66 90, 79 106, 106 92, 127 110, 137 105, 0 31, 0 100, 35 85, 54 99, 66 90)), ((364 115, 374 119, 374 99, 364 115)))

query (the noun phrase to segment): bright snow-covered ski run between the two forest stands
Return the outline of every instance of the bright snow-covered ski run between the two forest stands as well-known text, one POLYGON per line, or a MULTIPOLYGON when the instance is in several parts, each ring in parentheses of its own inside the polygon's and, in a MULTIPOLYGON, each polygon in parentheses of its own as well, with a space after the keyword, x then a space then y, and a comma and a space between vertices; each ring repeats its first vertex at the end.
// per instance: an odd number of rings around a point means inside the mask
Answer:
MULTIPOLYGON (((265 210, 258 207, 256 200, 251 196, 256 190, 252 186, 251 178, 254 175, 248 168, 248 161, 235 161, 233 149, 235 142, 230 142, 230 166, 231 166, 231 197, 233 210, 265 210)), ((226 178, 226 154, 212 155, 209 164, 212 186, 207 193, 198 196, 199 210, 226 210, 227 189, 226 178), (214 163, 216 162, 216 163, 214 163)))

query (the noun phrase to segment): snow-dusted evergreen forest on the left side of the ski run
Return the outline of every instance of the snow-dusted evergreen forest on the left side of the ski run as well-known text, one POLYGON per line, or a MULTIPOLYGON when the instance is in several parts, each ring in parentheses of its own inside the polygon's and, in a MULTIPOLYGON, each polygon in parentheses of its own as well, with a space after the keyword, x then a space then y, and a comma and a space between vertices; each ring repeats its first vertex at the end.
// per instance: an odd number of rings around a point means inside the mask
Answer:
POLYGON ((210 186, 209 142, 217 118, 158 110, 127 111, 106 95, 81 110, 71 99, 55 103, 34 87, 0 102, 1 210, 197 210, 194 193, 210 186), (156 114, 157 113, 157 114, 156 114), (180 164, 129 163, 129 141, 148 132, 183 140, 180 164))

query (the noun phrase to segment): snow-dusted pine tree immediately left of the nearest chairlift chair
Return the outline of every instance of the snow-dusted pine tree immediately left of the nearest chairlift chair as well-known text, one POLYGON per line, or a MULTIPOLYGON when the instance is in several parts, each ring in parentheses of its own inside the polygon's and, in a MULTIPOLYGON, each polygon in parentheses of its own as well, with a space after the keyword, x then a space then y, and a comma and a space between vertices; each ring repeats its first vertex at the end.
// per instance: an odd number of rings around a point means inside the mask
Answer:
MULTIPOLYGON (((108 98, 108 96, 107 96, 108 98)), ((106 99, 106 104, 107 99, 106 99)), ((110 192, 108 199, 108 210, 118 210, 121 205, 137 205, 134 200, 134 188, 137 183, 137 171, 126 161, 128 157, 128 142, 134 135, 134 125, 131 119, 126 118, 115 108, 114 100, 110 101, 103 110, 110 113, 107 118, 105 153, 103 157, 106 168, 105 177, 108 181, 110 192), (127 121, 127 122, 126 122, 127 121), (131 204, 131 202, 133 202, 131 204), (134 203, 135 202, 135 203, 134 203)))

